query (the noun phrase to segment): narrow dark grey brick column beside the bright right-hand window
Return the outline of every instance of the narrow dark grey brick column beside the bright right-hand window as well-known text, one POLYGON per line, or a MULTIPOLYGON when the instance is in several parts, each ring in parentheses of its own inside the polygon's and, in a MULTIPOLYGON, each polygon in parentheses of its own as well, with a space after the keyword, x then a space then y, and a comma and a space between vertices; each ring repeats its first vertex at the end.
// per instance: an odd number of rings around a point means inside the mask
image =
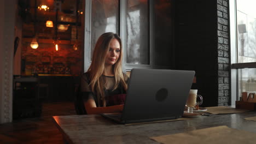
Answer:
POLYGON ((218 15, 218 105, 230 104, 228 1, 217 1, 218 15))

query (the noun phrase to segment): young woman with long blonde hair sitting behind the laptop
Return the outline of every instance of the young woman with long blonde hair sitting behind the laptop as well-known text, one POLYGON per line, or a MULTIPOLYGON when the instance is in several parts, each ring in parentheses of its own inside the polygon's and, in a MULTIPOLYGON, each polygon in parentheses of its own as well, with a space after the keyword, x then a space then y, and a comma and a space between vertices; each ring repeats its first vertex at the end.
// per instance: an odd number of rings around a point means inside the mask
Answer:
POLYGON ((128 77, 122 72, 122 44, 118 34, 98 38, 90 68, 81 79, 88 114, 123 111, 128 77))

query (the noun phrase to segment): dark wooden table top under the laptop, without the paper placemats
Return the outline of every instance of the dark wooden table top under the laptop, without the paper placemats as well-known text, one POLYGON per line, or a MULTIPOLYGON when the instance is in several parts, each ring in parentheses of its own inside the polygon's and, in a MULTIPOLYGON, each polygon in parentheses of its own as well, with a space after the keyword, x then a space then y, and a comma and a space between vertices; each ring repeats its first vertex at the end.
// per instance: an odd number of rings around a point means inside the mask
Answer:
POLYGON ((184 121, 117 124, 100 115, 54 116, 54 122, 68 143, 158 143, 152 136, 226 125, 230 128, 256 133, 256 122, 244 118, 256 116, 255 111, 197 116, 184 121))

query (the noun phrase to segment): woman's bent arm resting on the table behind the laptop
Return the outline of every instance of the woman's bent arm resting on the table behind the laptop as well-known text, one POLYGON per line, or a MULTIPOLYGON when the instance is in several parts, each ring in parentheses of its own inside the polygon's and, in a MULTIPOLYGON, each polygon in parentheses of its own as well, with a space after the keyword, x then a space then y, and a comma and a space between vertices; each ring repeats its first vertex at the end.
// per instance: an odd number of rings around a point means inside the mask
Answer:
POLYGON ((94 99, 88 99, 85 101, 86 112, 90 114, 100 114, 100 113, 113 113, 122 112, 124 105, 114 105, 106 107, 97 107, 94 99))

